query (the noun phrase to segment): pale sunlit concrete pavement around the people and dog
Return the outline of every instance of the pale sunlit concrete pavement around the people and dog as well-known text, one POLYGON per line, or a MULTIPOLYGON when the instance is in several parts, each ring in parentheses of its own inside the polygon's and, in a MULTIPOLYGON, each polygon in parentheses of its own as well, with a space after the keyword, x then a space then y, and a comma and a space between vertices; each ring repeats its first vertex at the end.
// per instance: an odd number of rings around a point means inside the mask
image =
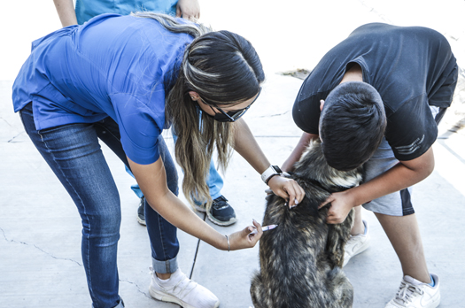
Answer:
MULTIPOLYGON (((12 16, 18 16, 14 13, 23 7, 14 2, 0 4, 3 12, 11 12, 4 16, 2 22, 6 19, 11 24, 1 25, 1 35, 12 42, 11 48, 0 54, 4 67, 0 74, 0 307, 89 307, 79 215, 24 133, 18 115, 12 112, 12 80, 27 57, 29 42, 59 26, 51 2, 42 6, 34 1, 26 3, 21 5, 29 8, 27 12, 14 19, 12 16)), ((205 22, 245 35, 259 50, 267 82, 244 118, 274 164, 282 164, 300 135, 291 119, 291 105, 301 81, 277 72, 313 67, 354 27, 369 21, 434 27, 448 37, 459 64, 463 63, 465 35, 463 27, 458 27, 463 1, 446 1, 440 7, 419 1, 411 2, 416 5, 405 1, 375 5, 375 1, 350 0, 318 7, 302 3, 287 1, 288 9, 284 5, 264 6, 269 4, 266 1, 241 0, 231 6, 213 0, 201 2, 205 22), (439 20, 438 16, 447 18, 439 20)), ((453 112, 440 127, 433 148, 437 161, 434 173, 414 190, 428 266, 440 277, 440 306, 447 308, 465 307, 465 131, 460 128, 464 96, 463 90, 458 93, 453 112)), ((170 134, 166 136, 172 148, 170 134)), ((138 200, 129 189, 133 180, 118 158, 105 147, 104 151, 122 204, 120 295, 127 307, 175 307, 148 296, 150 248, 145 228, 136 222, 138 200)), ((225 182, 223 193, 234 205, 239 221, 232 227, 213 227, 229 234, 250 224, 252 218, 260 221, 266 186, 252 167, 235 155, 225 182)), ((375 216, 363 214, 370 226, 372 245, 345 266, 345 273, 355 288, 354 307, 384 307, 399 286, 399 261, 375 216)), ((258 268, 258 247, 228 253, 198 243, 182 231, 179 238, 182 270, 219 296, 221 307, 252 304, 250 277, 258 268)))

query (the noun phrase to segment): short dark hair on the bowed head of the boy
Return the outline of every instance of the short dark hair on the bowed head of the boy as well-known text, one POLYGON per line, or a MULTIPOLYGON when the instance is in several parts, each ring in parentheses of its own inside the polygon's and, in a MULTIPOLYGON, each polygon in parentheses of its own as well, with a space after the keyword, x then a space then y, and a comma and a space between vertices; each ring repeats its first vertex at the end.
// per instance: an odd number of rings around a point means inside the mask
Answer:
POLYGON ((383 140, 386 115, 381 96, 366 82, 333 89, 320 117, 322 150, 329 166, 349 171, 373 156, 383 140))

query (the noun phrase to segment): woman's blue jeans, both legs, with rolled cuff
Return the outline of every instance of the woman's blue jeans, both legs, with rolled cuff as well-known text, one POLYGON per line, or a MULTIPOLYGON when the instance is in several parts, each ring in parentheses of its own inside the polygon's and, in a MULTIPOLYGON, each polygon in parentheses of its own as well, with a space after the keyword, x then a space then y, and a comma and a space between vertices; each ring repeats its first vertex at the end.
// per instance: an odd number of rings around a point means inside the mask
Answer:
MULTIPOLYGON (((100 149, 98 138, 128 166, 118 124, 106 118, 93 124, 67 124, 37 131, 32 104, 20 112, 27 135, 73 198, 82 221, 81 255, 93 307, 120 304, 116 265, 120 239, 120 196, 100 149)), ((177 196, 178 177, 163 137, 159 153, 167 172, 168 188, 177 196)), ((176 227, 145 204, 152 264, 157 273, 174 273, 179 243, 176 227)))

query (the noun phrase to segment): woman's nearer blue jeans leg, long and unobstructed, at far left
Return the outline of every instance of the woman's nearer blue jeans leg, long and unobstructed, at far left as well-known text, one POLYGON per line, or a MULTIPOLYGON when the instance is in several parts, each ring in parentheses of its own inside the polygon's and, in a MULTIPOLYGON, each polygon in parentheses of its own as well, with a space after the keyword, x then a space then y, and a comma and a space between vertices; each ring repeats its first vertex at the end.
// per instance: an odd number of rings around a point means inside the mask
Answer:
POLYGON ((120 303, 116 265, 120 196, 91 124, 37 131, 29 104, 20 116, 27 134, 73 198, 82 221, 81 254, 95 308, 120 303))

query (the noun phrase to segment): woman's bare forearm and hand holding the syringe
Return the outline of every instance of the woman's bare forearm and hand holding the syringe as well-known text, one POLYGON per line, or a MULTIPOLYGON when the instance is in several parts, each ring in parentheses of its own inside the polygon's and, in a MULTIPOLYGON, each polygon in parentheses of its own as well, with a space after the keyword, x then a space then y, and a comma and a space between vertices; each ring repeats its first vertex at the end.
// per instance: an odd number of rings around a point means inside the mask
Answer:
MULTIPOLYGON (((182 201, 167 188, 167 174, 163 161, 159 158, 150 165, 139 165, 128 158, 131 171, 136 177, 143 195, 153 210, 157 211, 164 219, 167 219, 174 227, 209 243, 220 250, 228 250, 226 236, 221 235, 213 227, 210 227, 202 219, 183 204, 182 201)), ((262 235, 259 223, 254 222, 259 233, 250 235, 252 226, 245 227, 242 231, 229 235, 230 250, 251 248, 260 240, 262 235)))

